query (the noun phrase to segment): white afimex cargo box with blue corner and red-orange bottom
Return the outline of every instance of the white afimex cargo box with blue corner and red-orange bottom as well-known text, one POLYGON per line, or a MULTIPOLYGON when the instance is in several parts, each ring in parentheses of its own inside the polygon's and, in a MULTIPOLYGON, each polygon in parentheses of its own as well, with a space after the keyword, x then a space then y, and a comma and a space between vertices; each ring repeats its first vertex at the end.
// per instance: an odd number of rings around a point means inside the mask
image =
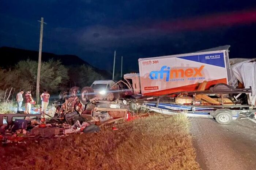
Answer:
POLYGON ((233 85, 228 49, 139 58, 142 95, 163 95, 196 90, 198 83, 207 87, 218 83, 233 85))

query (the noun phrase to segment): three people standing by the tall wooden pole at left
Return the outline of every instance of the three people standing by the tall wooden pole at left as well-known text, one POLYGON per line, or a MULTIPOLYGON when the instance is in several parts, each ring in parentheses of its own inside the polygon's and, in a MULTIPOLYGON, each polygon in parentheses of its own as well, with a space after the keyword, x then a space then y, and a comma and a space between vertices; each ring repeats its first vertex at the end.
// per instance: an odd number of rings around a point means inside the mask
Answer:
MULTIPOLYGON (((20 90, 20 92, 18 92, 18 94, 16 95, 16 100, 18 102, 18 112, 22 111, 21 105, 23 102, 23 96, 22 96, 23 94, 24 94, 24 90, 20 90)), ((31 104, 35 104, 35 101, 31 96, 31 91, 27 90, 24 97, 25 97, 25 113, 30 114, 31 104)), ((40 95, 40 97, 42 101, 41 113, 44 114, 46 112, 46 109, 49 103, 50 94, 48 93, 47 90, 44 90, 44 92, 40 95)))

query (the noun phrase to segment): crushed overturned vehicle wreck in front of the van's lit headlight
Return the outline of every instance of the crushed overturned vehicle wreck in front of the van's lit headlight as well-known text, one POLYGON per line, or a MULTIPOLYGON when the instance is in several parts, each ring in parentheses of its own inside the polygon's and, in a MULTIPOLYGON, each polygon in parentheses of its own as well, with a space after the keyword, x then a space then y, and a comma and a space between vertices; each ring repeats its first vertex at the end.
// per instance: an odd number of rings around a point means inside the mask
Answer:
MULTIPOLYGON (((80 121, 81 118, 95 124, 101 124, 115 119, 120 120, 120 118, 125 121, 128 117, 135 116, 135 114, 138 113, 131 110, 131 108, 138 110, 136 103, 125 99, 93 101, 85 105, 79 97, 76 96, 67 98, 64 103, 56 104, 55 106, 56 112, 52 118, 58 118, 69 124, 74 124, 77 120, 80 121)), ((147 110, 142 108, 141 112, 144 113, 147 112, 147 110)))

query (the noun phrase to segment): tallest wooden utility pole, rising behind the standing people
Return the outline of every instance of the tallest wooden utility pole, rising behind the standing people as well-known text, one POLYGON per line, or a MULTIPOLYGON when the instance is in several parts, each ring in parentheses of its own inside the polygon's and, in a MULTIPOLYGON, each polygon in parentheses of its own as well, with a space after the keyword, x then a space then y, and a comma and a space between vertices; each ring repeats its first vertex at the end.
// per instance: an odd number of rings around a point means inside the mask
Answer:
POLYGON ((42 56, 42 42, 43 42, 43 28, 44 24, 44 18, 41 17, 41 21, 38 20, 38 22, 41 22, 41 28, 40 28, 40 42, 39 42, 39 56, 38 56, 38 68, 37 68, 37 91, 36 91, 36 100, 38 103, 39 100, 39 83, 40 83, 40 71, 41 71, 41 56, 42 56))

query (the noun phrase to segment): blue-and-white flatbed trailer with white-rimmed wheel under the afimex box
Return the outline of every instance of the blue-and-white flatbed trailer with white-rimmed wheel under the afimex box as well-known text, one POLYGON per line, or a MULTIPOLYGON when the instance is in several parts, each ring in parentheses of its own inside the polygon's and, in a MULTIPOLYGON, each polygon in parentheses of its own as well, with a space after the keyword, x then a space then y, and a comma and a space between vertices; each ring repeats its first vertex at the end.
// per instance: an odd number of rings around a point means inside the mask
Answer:
POLYGON ((153 112, 175 115, 184 114, 189 117, 202 117, 202 118, 215 118, 215 120, 220 124, 229 124, 232 120, 236 120, 240 114, 246 114, 248 117, 256 117, 256 107, 252 105, 195 105, 195 96, 197 94, 204 95, 222 95, 224 94, 250 94, 252 92, 251 88, 243 89, 226 89, 226 90, 204 90, 204 91, 183 91, 175 92, 172 94, 166 94, 158 97, 148 97, 144 99, 139 99, 137 102, 142 105, 142 107, 147 108, 153 112), (188 95, 193 95, 193 104, 182 105, 177 103, 170 103, 167 101, 160 102, 160 99, 167 97, 169 95, 185 93, 188 95), (156 99, 156 101, 152 101, 156 99))

